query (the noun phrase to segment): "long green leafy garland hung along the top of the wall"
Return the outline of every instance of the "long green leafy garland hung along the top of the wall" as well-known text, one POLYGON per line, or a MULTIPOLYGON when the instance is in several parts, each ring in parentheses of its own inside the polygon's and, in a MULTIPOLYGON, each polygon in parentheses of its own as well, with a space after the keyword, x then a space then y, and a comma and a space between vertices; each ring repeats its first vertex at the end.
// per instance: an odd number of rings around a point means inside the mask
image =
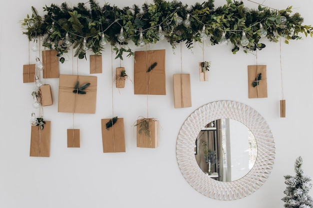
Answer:
POLYGON ((200 32, 203 25, 212 45, 218 44, 222 32, 225 32, 226 38, 233 45, 232 53, 236 53, 240 47, 245 52, 265 47, 265 44, 260 43, 259 23, 267 30, 267 39, 274 42, 280 37, 285 38, 288 43, 291 39, 300 39, 300 34, 313 35, 313 27, 302 25, 303 18, 299 13, 291 14, 291 6, 282 10, 261 5, 257 9, 249 9, 242 1, 226 0, 223 6, 215 8, 213 2, 214 0, 207 0, 188 6, 178 0, 154 0, 153 3, 144 3, 141 7, 133 5, 123 8, 107 3, 100 6, 95 0, 89 0, 88 4, 78 3, 73 7, 69 7, 66 2, 60 6, 52 3, 43 7, 43 16, 31 7, 31 16, 27 14, 22 21, 23 34, 29 40, 43 36, 43 46, 57 50, 61 62, 64 61, 62 54, 69 50, 63 43, 66 32, 75 49, 75 56, 85 57, 86 51, 82 50, 83 38, 86 38, 86 45, 92 52, 100 54, 104 50, 99 44, 103 33, 106 40, 114 46, 115 58, 120 59, 123 58, 123 52, 128 53, 127 56, 134 55, 127 42, 132 41, 137 45, 139 31, 143 32, 143 41, 146 44, 156 43, 159 40, 158 26, 162 27, 165 38, 173 49, 182 41, 187 48, 192 48, 194 42, 201 42, 200 32), (175 21, 178 16, 186 18, 187 14, 190 15, 190 27, 178 25, 175 21), (281 16, 286 17, 284 24, 279 20, 281 16), (29 20, 34 21, 34 27, 27 27, 29 20), (125 41, 118 42, 117 34, 121 27, 125 41), (240 45, 242 31, 249 40, 247 46, 240 45))

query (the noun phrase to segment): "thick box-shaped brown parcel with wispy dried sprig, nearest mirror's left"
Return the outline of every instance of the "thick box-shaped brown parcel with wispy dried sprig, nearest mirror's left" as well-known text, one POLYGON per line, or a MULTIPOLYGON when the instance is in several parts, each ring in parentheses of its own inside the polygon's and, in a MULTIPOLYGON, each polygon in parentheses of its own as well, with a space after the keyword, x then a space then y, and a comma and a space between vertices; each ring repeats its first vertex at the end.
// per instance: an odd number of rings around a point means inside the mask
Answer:
POLYGON ((146 119, 149 123, 149 133, 150 136, 146 135, 144 132, 139 134, 140 123, 144 119, 137 120, 137 147, 143 148, 156 148, 159 146, 159 122, 154 119, 146 119))

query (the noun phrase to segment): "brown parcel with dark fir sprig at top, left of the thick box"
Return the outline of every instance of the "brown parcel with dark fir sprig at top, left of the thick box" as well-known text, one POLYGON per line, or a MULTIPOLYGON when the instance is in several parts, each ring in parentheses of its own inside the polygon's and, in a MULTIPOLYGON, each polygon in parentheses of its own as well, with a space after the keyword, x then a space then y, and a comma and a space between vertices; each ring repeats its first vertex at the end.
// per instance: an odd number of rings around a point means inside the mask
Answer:
POLYGON ((111 119, 101 119, 103 153, 125 152, 124 119, 117 118, 113 126, 106 129, 111 119))

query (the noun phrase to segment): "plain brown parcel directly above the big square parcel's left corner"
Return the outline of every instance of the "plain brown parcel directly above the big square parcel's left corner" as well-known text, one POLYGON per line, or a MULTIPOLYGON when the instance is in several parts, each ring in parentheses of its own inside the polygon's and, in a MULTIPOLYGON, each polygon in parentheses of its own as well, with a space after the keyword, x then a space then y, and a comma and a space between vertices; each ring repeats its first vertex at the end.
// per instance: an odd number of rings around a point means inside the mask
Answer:
POLYGON ((43 50, 42 51, 42 64, 43 64, 43 78, 58 78, 59 66, 58 56, 56 50, 43 50))

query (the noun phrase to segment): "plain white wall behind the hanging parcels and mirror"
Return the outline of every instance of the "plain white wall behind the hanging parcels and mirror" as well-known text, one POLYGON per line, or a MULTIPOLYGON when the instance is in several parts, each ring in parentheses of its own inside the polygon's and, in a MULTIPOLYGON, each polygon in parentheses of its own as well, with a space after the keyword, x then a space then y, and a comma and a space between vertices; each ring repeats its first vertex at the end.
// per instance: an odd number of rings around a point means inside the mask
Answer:
MULTIPOLYGON (((53 3, 60 4, 62 0, 53 3)), ((71 1, 77 4, 78 0, 71 1)), ((115 0, 117 6, 141 5, 143 0, 115 0), (126 4, 127 3, 127 4, 126 4)), ((183 0, 194 4, 196 1, 183 0)), ((226 1, 218 1, 216 5, 226 1)), ((252 54, 231 53, 231 46, 205 47, 211 61, 209 81, 199 82, 197 63, 201 49, 183 47, 183 72, 190 73, 192 107, 174 109, 172 74, 180 71, 179 49, 173 54, 164 40, 151 49, 166 49, 166 96, 149 96, 149 117, 160 121, 160 147, 136 148, 133 123, 146 116, 146 96, 134 95, 127 82, 120 92, 113 88, 114 115, 124 118, 126 153, 102 153, 100 119, 112 117, 111 53, 103 53, 103 73, 98 76, 95 114, 75 114, 80 129, 81 148, 66 147, 66 129, 72 127, 72 114, 57 113, 58 79, 47 79, 52 87, 54 105, 44 107, 44 119, 51 121, 49 158, 29 157, 32 84, 22 83, 22 65, 28 63, 28 42, 21 34, 19 20, 39 12, 49 0, 1 2, 0 7, 0 207, 1 208, 159 208, 159 207, 282 207, 285 189, 283 176, 293 175, 293 164, 302 156, 304 173, 313 176, 312 153, 312 49, 311 38, 282 44, 283 90, 286 118, 279 117, 281 99, 279 44, 264 41, 258 51, 258 64, 267 65, 268 98, 248 99, 247 65, 255 64, 252 54), (242 102, 258 111, 268 122, 276 143, 276 159, 265 184, 250 196, 235 201, 217 201, 197 193, 182 177, 175 156, 178 131, 184 120, 198 107, 217 100, 242 102)), ((104 3, 104 1, 100 1, 104 3)), ((256 4, 244 1, 249 7, 256 4)), ((274 8, 293 5, 313 24, 309 0, 264 2, 274 8)), ((142 48, 132 49, 142 50, 142 48)), ((31 54, 31 58, 33 54, 31 54)), ((69 57, 71 55, 69 54, 69 57)), ((33 58, 31 59, 33 60, 33 58)), ((76 59, 73 61, 76 67, 76 59)), ((133 78, 133 57, 122 66, 133 78)), ((79 73, 88 74, 88 61, 78 61, 79 73)), ((60 73, 71 73, 71 60, 60 65, 60 73)), ((313 193, 313 192, 311 192, 313 193)))

